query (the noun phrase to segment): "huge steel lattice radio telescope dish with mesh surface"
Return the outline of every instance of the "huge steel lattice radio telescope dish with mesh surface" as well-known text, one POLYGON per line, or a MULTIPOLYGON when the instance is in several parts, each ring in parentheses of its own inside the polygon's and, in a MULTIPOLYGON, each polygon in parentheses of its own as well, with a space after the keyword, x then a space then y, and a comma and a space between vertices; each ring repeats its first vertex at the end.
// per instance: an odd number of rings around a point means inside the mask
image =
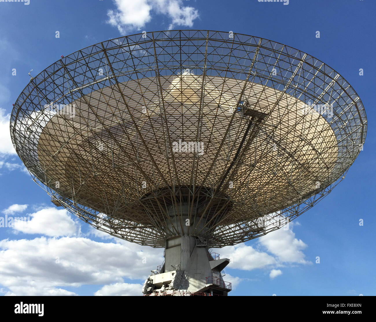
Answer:
POLYGON ((153 247, 186 225, 182 204, 203 245, 282 227, 344 178, 366 130, 358 95, 320 60, 207 30, 141 33, 62 57, 30 80, 11 116, 18 155, 56 205, 153 247), (73 114, 57 108, 68 104, 73 114))

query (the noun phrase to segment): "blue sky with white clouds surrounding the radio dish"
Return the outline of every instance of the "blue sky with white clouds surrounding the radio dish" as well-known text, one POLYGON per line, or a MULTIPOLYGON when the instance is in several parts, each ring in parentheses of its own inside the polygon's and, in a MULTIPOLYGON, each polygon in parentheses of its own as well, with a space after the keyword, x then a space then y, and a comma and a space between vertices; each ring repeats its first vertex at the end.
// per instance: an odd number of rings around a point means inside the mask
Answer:
POLYGON ((376 295, 375 12, 370 0, 0 2, 0 217, 31 219, 27 231, 0 228, 0 294, 141 295, 140 284, 162 263, 162 249, 106 236, 56 208, 12 148, 9 113, 31 69, 35 76, 106 39, 173 28, 231 30, 305 51, 338 71, 367 113, 364 151, 331 194, 289 230, 216 251, 232 259, 224 277, 230 295, 376 295))

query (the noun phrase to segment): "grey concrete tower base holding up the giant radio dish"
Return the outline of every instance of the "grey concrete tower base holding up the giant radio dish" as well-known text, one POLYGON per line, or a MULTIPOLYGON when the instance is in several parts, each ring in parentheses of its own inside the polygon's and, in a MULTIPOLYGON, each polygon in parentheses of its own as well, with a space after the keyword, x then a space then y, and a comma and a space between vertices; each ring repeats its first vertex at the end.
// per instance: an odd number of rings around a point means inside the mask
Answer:
POLYGON ((165 262, 149 275, 143 286, 149 296, 227 296, 231 283, 221 271, 227 258, 210 252, 194 236, 177 236, 166 241, 165 262))

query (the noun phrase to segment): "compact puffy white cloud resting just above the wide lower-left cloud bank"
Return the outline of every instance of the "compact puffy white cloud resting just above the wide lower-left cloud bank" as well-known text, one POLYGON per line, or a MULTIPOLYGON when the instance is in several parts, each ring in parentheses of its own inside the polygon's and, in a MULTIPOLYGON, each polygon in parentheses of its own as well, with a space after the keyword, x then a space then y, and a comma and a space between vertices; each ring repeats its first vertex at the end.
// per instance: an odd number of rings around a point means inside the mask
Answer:
POLYGON ((55 237, 77 236, 80 233, 80 225, 72 220, 66 209, 45 208, 30 214, 30 218, 30 221, 15 221, 14 229, 26 234, 55 237))

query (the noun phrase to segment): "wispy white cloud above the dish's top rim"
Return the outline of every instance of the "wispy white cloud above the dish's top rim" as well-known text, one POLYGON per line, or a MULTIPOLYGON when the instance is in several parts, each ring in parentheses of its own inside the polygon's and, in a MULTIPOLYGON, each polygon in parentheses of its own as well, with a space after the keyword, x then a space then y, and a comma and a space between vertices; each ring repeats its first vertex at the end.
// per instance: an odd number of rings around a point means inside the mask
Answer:
POLYGON ((140 30, 154 14, 168 18, 168 29, 192 27, 193 21, 199 17, 198 11, 186 6, 183 0, 114 0, 114 3, 116 9, 107 12, 108 23, 117 27, 121 34, 140 30))

